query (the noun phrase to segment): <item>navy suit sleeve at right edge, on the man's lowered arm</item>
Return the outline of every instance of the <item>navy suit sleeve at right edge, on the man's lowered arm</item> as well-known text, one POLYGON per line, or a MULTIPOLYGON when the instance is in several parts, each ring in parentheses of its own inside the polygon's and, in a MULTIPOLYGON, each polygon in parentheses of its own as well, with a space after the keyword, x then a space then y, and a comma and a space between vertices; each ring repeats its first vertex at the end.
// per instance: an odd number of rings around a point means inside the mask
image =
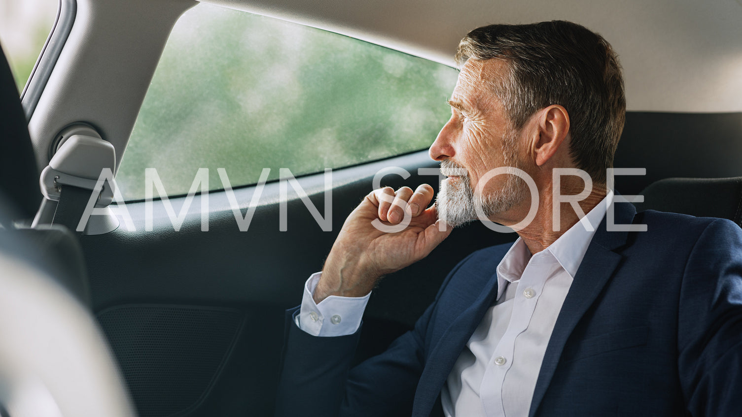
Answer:
POLYGON ((693 416, 742 416, 742 230, 717 220, 698 238, 680 291, 678 371, 693 416))

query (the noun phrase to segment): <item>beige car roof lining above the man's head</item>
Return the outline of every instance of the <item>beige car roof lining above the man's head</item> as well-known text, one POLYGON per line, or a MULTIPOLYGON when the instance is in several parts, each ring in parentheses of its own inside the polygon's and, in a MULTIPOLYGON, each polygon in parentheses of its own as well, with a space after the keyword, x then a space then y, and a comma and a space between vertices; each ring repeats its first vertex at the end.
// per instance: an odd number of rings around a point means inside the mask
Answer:
MULTIPOLYGON (((296 21, 453 66, 468 30, 565 19, 620 56, 628 109, 742 111, 742 7, 732 0, 202 0, 296 21)), ((742 0, 741 0, 742 1, 742 0)))

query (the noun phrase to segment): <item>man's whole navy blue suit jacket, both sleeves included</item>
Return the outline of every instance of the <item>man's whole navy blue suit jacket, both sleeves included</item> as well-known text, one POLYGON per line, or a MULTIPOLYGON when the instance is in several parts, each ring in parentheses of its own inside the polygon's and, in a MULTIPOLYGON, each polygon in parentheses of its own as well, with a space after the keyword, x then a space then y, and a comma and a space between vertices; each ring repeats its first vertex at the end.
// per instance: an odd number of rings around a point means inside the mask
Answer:
MULTIPOLYGON (((742 416, 742 230, 615 204, 574 277, 529 416, 742 416)), ((468 256, 379 356, 350 368, 358 333, 315 337, 286 315, 278 416, 428 416, 493 303, 510 244, 468 256)), ((485 389, 485 388, 483 388, 485 389)))

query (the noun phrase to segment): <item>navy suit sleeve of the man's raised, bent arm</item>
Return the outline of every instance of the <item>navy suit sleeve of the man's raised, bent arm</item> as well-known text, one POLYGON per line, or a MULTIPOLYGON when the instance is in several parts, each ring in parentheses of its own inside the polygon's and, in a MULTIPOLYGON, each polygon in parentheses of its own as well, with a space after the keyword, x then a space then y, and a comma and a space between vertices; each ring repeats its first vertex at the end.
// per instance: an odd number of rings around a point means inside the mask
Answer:
POLYGON ((276 416, 410 416, 424 367, 424 338, 436 303, 461 261, 441 285, 436 301, 413 330, 381 355, 350 369, 363 325, 352 335, 312 336, 286 311, 276 416))

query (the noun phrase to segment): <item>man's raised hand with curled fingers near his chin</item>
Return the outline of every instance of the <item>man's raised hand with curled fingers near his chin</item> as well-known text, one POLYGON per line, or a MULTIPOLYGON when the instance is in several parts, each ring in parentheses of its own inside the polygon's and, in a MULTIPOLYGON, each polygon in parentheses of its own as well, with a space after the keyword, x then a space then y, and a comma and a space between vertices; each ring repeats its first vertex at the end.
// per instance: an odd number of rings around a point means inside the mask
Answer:
POLYGON ((384 187, 367 195, 345 220, 332 245, 315 289, 315 302, 328 296, 365 296, 381 276, 427 256, 451 233, 449 226, 439 227, 435 206, 426 210, 432 200, 433 187, 428 184, 414 193, 410 187, 396 193, 384 187), (404 230, 387 233, 379 230, 384 227, 374 226, 379 223, 376 219, 387 227, 399 227, 405 220, 409 224, 404 230))

